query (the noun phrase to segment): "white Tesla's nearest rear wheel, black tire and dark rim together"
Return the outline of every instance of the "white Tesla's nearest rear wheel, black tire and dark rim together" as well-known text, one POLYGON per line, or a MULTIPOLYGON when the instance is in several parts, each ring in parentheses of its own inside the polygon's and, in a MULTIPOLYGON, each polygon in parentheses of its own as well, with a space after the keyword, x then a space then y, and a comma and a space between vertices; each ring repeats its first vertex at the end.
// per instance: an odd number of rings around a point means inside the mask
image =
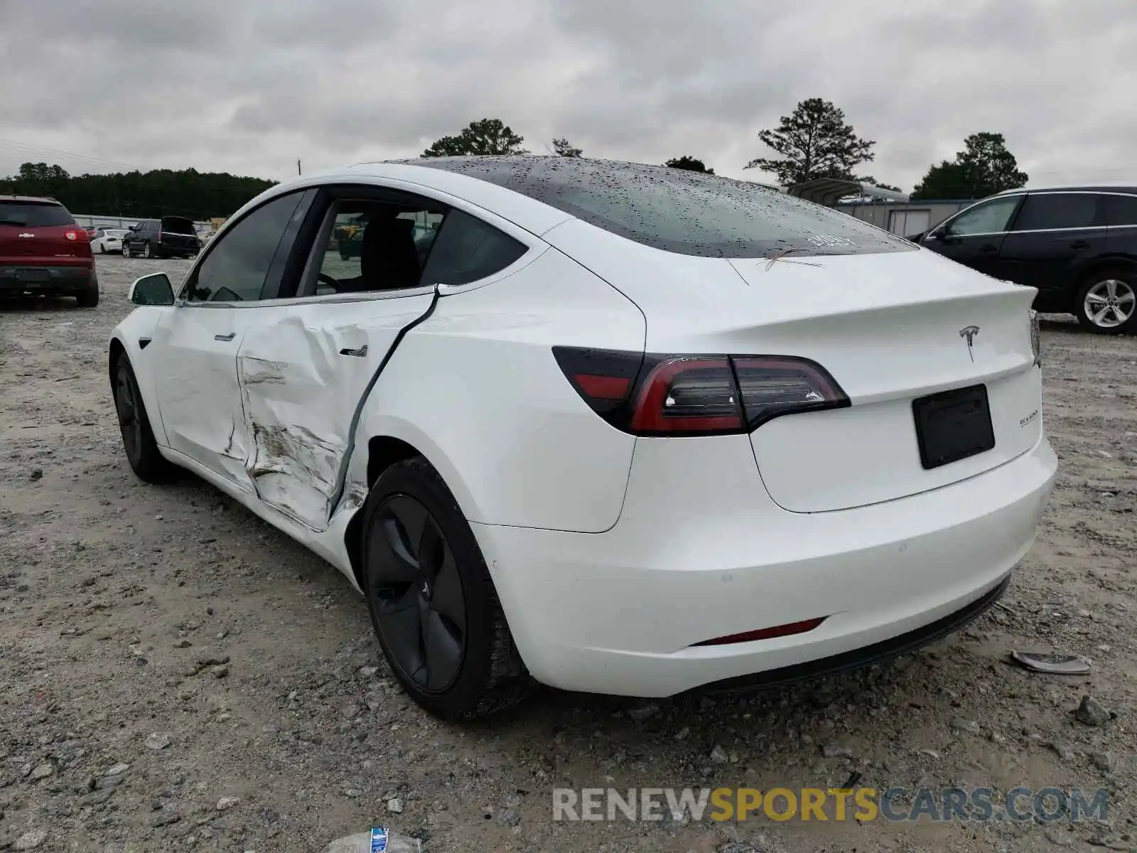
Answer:
POLYGON ((422 457, 384 471, 364 506, 367 610, 391 671, 443 719, 468 720, 533 688, 470 524, 422 457))

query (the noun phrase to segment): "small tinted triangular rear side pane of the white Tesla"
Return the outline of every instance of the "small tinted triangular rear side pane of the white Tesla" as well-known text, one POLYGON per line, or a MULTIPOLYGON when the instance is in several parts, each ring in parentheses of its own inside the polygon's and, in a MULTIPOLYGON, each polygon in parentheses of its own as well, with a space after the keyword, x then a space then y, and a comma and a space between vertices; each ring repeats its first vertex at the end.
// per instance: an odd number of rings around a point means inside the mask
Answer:
POLYGON ((451 210, 426 259, 424 284, 468 284, 505 270, 528 247, 475 216, 451 210))

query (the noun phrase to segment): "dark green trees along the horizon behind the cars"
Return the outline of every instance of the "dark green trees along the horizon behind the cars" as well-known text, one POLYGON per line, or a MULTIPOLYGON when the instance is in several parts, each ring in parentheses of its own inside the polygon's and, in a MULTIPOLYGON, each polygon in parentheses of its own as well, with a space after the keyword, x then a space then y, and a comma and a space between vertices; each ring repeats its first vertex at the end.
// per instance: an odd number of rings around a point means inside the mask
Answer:
MULTIPOLYGON (((831 101, 807 98, 777 127, 758 132, 758 141, 772 151, 756 157, 745 168, 777 175, 779 184, 791 187, 818 177, 836 177, 897 190, 872 175, 857 175, 857 167, 871 163, 875 140, 856 134, 844 110, 831 101)), ((530 154, 524 136, 499 118, 471 122, 454 135, 435 140, 422 157, 530 154)), ((566 138, 551 140, 548 154, 583 157, 566 138)), ((714 174, 702 159, 682 155, 664 166, 714 174)), ((929 167, 915 185, 913 199, 977 199, 1027 183, 1027 173, 1007 148, 1002 133, 972 133, 952 160, 929 167)), ((121 216, 179 215, 193 220, 229 216, 246 201, 273 187, 275 181, 241 177, 229 173, 155 169, 105 175, 68 175, 57 165, 25 163, 16 175, 0 179, 0 194, 51 196, 70 210, 121 216)))

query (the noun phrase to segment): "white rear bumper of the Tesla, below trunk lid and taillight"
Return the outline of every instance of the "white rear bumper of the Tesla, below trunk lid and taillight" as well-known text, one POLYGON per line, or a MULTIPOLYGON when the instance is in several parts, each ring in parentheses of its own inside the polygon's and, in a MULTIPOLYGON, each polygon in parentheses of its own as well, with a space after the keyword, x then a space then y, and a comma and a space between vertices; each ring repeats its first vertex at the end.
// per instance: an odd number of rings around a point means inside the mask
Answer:
POLYGON ((1056 469, 1044 437, 952 486, 790 513, 765 492, 746 437, 640 439, 609 531, 473 528, 534 678, 671 696, 857 665, 952 630, 1029 550, 1056 469), (821 616, 805 633, 695 645, 821 616))

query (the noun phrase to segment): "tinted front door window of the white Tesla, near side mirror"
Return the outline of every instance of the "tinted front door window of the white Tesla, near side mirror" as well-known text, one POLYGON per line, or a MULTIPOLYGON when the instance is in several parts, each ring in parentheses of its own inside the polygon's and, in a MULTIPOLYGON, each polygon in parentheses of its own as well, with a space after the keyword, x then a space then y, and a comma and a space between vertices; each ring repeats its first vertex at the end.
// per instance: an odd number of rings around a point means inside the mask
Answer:
POLYGON ((213 241, 185 298, 213 303, 260 299, 265 276, 302 196, 293 192, 262 205, 213 241))

